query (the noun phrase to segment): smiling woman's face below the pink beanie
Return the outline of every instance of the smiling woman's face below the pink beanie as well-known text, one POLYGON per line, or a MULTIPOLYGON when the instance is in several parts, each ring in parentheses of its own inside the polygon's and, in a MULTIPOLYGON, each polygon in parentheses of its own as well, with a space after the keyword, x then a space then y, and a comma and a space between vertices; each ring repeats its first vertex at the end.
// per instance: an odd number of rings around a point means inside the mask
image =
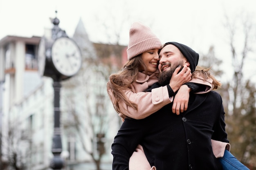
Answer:
POLYGON ((159 61, 158 49, 152 49, 142 53, 141 58, 148 72, 154 73, 157 71, 157 63, 159 61))

